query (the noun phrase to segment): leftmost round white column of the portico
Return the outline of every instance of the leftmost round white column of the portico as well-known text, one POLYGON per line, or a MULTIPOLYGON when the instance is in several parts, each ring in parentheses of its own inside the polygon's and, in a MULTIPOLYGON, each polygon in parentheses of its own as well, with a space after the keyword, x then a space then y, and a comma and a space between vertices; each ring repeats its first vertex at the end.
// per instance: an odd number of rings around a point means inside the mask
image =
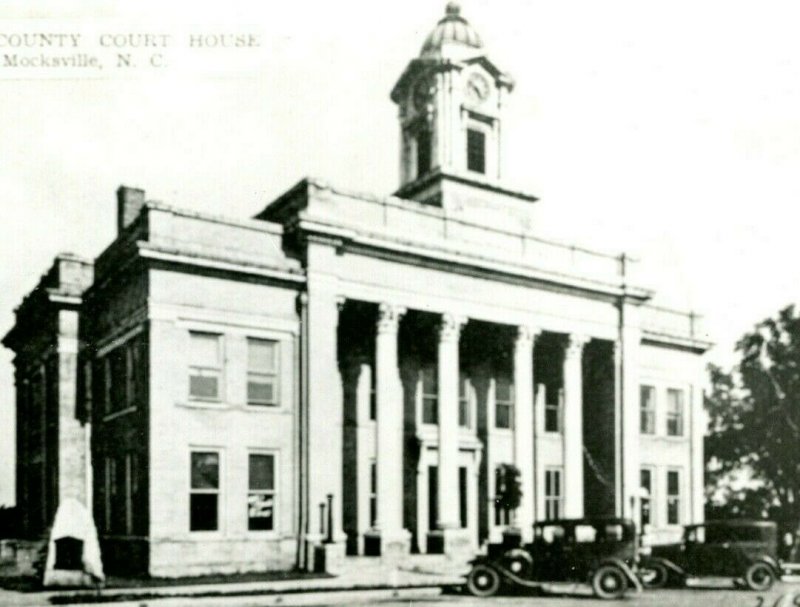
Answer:
POLYGON ((382 554, 408 551, 409 534, 403 530, 403 392, 397 358, 397 328, 404 312, 399 306, 381 304, 375 336, 377 527, 382 554))

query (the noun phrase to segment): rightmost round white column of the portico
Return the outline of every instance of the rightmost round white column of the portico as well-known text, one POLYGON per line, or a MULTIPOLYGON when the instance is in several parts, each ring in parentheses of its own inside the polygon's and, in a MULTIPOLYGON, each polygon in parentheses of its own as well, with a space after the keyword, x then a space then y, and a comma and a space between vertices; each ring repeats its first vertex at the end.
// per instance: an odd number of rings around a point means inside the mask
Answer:
POLYGON ((564 516, 583 516, 583 346, 570 335, 564 355, 564 516))

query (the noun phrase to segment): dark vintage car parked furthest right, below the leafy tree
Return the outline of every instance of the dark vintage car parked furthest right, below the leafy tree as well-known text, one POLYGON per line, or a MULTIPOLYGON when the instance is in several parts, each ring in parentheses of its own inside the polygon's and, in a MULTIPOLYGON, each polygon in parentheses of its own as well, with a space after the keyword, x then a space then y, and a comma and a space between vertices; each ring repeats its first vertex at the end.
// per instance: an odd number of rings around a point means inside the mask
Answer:
POLYGON ((689 577, 730 577, 765 591, 780 578, 777 526, 769 521, 709 521, 684 527, 683 541, 652 546, 638 573, 646 588, 679 586, 689 577))

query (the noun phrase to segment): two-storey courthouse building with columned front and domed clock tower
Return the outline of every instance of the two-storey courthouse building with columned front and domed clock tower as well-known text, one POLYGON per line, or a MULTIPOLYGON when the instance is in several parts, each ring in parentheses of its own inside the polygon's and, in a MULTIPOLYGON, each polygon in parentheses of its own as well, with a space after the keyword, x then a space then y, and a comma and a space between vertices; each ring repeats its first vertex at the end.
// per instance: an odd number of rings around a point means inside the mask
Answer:
POLYGON ((77 497, 107 570, 169 576, 701 520, 709 344, 633 259, 537 237, 501 179, 513 85, 451 3, 391 91, 394 195, 306 179, 240 219, 121 187, 116 239, 4 340, 25 534, 77 497))

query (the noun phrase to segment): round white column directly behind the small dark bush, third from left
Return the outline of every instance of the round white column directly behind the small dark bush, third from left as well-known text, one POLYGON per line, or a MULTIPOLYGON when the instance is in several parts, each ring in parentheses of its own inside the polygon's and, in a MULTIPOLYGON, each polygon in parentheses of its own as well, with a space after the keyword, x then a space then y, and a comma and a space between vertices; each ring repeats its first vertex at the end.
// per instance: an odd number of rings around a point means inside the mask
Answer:
POLYGON ((514 343, 514 462, 520 471, 522 500, 517 509, 517 526, 522 539, 533 536, 534 468, 533 468, 533 344, 537 330, 517 328, 514 343))

